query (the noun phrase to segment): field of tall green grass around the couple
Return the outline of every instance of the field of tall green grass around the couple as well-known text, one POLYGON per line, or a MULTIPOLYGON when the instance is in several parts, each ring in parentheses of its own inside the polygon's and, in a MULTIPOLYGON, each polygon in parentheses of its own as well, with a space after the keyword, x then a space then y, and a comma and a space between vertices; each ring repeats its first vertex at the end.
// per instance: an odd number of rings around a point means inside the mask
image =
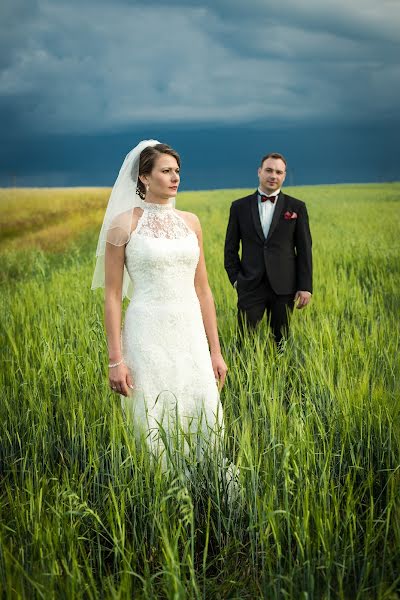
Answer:
POLYGON ((235 351, 230 202, 182 193, 204 231, 229 366, 229 502, 154 468, 107 386, 90 291, 109 190, 0 190, 0 597, 400 598, 400 184, 289 189, 307 202, 312 304, 286 352, 235 351))

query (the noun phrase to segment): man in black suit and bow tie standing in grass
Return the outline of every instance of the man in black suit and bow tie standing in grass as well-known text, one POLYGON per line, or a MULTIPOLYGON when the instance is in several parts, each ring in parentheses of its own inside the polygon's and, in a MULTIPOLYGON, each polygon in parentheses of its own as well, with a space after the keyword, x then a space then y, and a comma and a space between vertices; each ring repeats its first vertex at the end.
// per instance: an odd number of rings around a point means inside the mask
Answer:
POLYGON ((232 203, 225 239, 225 270, 238 295, 238 321, 255 328, 267 313, 278 345, 287 337, 294 304, 312 292, 311 234, 301 200, 281 191, 286 159, 261 159, 256 192, 232 203), (241 256, 239 257, 239 246, 241 256))

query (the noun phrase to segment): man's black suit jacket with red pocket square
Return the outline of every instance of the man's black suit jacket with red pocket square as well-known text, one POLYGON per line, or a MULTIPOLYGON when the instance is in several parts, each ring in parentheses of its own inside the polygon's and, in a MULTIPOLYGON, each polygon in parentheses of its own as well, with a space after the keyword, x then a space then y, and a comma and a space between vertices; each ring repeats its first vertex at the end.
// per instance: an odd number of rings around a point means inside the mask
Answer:
POLYGON ((258 192, 231 205, 225 238, 225 269, 237 281, 238 305, 249 308, 265 297, 265 276, 279 295, 312 292, 311 233, 306 205, 280 192, 264 238, 258 192), (286 212, 297 218, 285 219, 286 212), (239 247, 242 247, 239 257, 239 247))

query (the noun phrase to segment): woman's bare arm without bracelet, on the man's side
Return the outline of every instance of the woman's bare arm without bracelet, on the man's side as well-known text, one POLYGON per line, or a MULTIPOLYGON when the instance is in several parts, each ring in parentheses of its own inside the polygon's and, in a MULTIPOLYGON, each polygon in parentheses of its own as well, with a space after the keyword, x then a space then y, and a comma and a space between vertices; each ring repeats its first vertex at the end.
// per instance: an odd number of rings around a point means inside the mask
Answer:
POLYGON ((217 315, 215 312, 214 298, 208 283, 206 262, 203 250, 203 234, 201 225, 196 215, 188 214, 190 219, 189 226, 197 235, 200 248, 200 258, 196 269, 194 285, 196 294, 200 302, 201 314, 203 317, 204 329, 206 331, 208 344, 210 346, 211 362, 216 379, 219 380, 221 387, 224 385, 226 372, 228 370, 221 354, 221 346, 218 337, 217 315))

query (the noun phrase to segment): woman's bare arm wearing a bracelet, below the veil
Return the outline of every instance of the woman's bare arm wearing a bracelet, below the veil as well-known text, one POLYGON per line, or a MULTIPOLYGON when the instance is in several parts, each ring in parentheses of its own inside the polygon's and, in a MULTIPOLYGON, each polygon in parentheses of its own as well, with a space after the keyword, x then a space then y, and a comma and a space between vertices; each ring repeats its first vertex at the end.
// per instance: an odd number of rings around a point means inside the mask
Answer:
MULTIPOLYGON (((125 246, 106 244, 104 321, 110 364, 122 361, 121 321, 124 259, 125 246)), ((129 388, 133 387, 133 381, 128 367, 123 362, 109 368, 109 383, 114 391, 124 396, 129 395, 129 388)))

